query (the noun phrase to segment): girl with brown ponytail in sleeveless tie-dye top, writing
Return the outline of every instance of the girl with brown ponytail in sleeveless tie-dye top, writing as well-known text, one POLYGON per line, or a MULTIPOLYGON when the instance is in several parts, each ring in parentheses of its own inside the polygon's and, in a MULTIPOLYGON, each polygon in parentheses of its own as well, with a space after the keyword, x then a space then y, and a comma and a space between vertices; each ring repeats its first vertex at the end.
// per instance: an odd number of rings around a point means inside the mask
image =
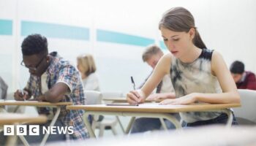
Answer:
MULTIPOLYGON (((165 74, 170 74, 176 99, 165 99, 160 104, 240 103, 236 84, 222 55, 206 48, 187 9, 169 9, 159 22, 159 30, 170 53, 160 59, 141 90, 127 93, 129 103, 143 103, 165 74)), ((187 126, 227 123, 228 118, 223 112, 180 115, 187 126)), ((237 124, 236 118, 233 124, 237 124)))

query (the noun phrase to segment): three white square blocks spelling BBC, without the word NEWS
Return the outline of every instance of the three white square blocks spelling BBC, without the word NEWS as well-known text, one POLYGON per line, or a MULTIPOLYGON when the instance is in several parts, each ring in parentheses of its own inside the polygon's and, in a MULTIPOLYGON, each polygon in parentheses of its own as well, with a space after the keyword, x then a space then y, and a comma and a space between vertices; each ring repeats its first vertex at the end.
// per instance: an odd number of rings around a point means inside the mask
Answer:
POLYGON ((26 125, 4 125, 4 135, 39 135, 39 125, 29 125, 29 134, 27 134, 26 125))

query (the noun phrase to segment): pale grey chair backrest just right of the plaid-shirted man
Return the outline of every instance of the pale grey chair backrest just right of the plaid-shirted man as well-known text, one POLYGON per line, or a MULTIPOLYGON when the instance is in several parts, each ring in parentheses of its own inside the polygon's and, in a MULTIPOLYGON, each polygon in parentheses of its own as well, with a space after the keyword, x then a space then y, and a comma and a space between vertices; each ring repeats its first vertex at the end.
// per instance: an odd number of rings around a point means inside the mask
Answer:
POLYGON ((102 104, 102 93, 99 91, 84 91, 86 104, 102 104))

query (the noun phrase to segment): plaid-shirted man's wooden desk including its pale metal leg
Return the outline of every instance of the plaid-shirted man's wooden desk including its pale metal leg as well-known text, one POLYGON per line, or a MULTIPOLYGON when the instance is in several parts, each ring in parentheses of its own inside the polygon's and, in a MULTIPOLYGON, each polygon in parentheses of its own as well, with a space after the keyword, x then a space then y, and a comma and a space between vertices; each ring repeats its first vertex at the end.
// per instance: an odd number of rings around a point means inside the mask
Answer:
MULTIPOLYGON (((34 106, 34 107, 55 107, 56 113, 53 117, 53 120, 50 122, 49 126, 54 126, 56 123, 56 120, 59 117, 59 114, 61 112, 61 106, 67 106, 72 105, 72 102, 58 102, 58 103, 50 103, 45 101, 15 101, 15 100, 4 100, 0 101, 1 105, 16 105, 16 106, 34 106)), ((42 139, 42 142, 40 145, 45 145, 45 142, 47 141, 49 137, 49 134, 45 134, 44 138, 42 139)))

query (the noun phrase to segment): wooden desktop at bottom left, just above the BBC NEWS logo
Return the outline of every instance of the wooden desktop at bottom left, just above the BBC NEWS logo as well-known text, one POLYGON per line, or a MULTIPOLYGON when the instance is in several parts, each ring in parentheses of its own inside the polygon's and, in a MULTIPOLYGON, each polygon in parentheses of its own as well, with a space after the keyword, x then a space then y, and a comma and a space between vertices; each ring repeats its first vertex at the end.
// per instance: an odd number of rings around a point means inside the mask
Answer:
POLYGON ((44 115, 31 116, 15 113, 0 113, 0 125, 13 123, 45 123, 47 117, 44 115))

